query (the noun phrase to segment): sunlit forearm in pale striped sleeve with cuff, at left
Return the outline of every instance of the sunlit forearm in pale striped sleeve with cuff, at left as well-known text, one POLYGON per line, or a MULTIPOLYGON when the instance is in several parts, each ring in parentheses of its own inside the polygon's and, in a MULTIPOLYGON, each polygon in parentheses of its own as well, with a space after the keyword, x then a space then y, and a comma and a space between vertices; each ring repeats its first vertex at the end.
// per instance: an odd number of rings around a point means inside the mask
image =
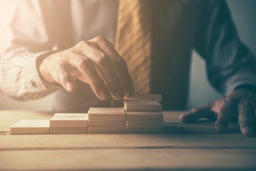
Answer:
POLYGON ((20 100, 37 99, 55 91, 56 87, 48 86, 41 80, 36 65, 39 57, 50 53, 32 53, 23 48, 6 51, 0 62, 1 91, 20 100))

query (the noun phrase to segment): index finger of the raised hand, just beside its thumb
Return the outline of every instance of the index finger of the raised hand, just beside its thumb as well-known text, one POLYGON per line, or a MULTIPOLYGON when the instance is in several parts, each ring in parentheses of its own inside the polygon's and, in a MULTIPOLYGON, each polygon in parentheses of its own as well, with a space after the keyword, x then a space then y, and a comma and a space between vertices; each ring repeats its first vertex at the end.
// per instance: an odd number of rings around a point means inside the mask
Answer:
POLYGON ((79 77, 81 81, 89 83, 93 92, 96 96, 101 100, 106 100, 110 97, 110 92, 103 80, 100 78, 97 73, 94 63, 91 59, 81 55, 76 54, 75 57, 72 58, 75 63, 77 69, 82 74, 82 77, 79 77))

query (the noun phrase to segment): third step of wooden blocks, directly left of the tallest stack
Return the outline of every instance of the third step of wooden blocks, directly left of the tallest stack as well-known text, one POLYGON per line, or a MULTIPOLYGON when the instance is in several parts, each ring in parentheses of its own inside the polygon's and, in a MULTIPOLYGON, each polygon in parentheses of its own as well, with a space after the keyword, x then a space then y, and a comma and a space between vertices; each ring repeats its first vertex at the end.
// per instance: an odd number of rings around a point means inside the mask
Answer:
POLYGON ((124 134, 123 108, 90 108, 88 111, 89 134, 124 134))

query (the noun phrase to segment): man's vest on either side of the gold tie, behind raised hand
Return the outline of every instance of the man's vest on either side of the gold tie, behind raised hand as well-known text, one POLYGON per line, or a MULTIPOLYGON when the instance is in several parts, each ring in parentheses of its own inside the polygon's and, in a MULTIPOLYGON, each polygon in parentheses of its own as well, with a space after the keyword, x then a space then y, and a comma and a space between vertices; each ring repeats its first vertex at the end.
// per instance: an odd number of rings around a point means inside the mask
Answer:
MULTIPOLYGON (((103 36, 115 44, 118 0, 76 0, 68 3, 59 7, 68 17, 62 18, 65 20, 61 22, 57 49, 67 49, 96 36, 103 36)), ((187 1, 152 1, 152 4, 150 93, 163 95, 164 109, 183 109, 188 95, 190 56, 198 22, 197 3, 193 3, 193 8, 187 1)), ((111 101, 99 100, 88 84, 77 81, 75 92, 61 89, 55 93, 54 110, 85 112, 93 106, 118 104, 111 101)))

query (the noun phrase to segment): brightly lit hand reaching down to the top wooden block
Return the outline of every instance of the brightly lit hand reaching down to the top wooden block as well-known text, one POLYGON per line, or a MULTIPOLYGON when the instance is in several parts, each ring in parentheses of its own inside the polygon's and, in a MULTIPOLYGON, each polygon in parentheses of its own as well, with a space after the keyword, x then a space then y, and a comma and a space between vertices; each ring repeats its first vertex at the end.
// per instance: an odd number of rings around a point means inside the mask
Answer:
POLYGON ((101 36, 80 41, 70 49, 46 57, 39 65, 39 72, 47 82, 57 82, 69 92, 75 90, 74 80, 79 79, 90 84, 102 100, 110 94, 116 100, 134 94, 126 62, 101 36))

